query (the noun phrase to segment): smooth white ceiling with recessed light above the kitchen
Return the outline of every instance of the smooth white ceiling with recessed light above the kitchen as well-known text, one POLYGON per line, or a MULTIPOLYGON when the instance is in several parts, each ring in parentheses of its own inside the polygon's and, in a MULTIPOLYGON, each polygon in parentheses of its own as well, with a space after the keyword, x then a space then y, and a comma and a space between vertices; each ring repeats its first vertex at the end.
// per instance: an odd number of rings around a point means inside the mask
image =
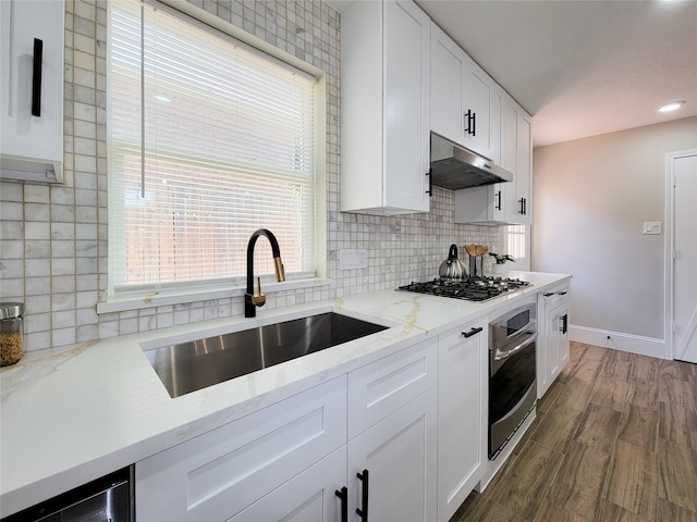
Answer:
POLYGON ((697 115, 697 0, 416 3, 533 114, 536 147, 697 115))

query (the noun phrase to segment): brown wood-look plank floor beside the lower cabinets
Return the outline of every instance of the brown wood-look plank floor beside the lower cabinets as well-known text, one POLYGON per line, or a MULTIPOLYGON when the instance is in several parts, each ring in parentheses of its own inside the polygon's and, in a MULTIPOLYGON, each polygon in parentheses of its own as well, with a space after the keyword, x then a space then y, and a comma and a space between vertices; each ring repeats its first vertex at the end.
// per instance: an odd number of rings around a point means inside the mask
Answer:
POLYGON ((572 343, 537 419, 450 522, 697 522, 697 364, 572 343))

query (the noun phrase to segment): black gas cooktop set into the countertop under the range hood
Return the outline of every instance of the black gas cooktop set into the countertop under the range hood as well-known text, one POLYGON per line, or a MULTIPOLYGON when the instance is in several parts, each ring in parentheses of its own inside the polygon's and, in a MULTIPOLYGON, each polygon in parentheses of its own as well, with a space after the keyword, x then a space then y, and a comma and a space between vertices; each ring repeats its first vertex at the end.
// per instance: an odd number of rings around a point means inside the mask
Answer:
POLYGON ((426 283, 411 283, 398 290, 415 291, 428 296, 450 297, 466 301, 486 301, 508 291, 514 291, 530 283, 521 279, 501 277, 463 277, 461 279, 433 279, 426 283))

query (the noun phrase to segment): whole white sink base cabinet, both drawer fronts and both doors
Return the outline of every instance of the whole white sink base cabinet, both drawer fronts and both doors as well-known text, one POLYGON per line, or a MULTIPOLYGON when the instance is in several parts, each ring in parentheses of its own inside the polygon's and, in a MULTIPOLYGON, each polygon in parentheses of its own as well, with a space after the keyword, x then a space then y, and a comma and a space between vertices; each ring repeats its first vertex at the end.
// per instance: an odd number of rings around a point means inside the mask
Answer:
POLYGON ((342 509, 357 521, 366 506, 371 522, 435 520, 437 348, 406 348, 137 462, 138 522, 339 522, 342 509))

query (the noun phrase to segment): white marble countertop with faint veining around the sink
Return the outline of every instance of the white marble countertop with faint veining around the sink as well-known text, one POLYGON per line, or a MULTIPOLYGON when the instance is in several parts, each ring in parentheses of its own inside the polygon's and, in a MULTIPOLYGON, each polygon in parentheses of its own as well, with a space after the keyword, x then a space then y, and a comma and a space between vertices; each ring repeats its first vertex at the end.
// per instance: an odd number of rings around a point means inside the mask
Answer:
POLYGON ((0 515, 137 462, 356 368, 489 316, 571 278, 512 272, 531 286, 482 303, 384 290, 27 352, 0 371, 0 515), (326 311, 390 326, 172 399, 143 349, 326 311))

